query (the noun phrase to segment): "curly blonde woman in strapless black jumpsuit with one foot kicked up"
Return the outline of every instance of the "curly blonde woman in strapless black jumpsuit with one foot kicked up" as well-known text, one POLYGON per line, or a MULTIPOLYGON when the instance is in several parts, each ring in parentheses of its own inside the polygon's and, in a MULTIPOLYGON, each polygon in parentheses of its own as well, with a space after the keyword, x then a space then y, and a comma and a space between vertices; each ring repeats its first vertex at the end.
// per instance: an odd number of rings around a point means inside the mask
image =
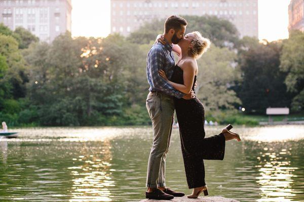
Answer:
MULTIPOLYGON (((158 41, 165 42, 162 37, 158 41)), ((173 45, 173 51, 179 56, 179 59, 170 81, 164 71, 159 70, 159 74, 175 89, 185 94, 189 93, 194 90, 198 74, 196 60, 209 47, 209 39, 202 37, 200 32, 196 31, 185 35, 178 42, 178 45, 173 45)), ((223 160, 225 141, 231 139, 241 141, 240 136, 224 128, 220 134, 205 138, 205 110, 200 100, 198 98, 174 98, 174 104, 179 123, 187 183, 189 188, 194 188, 192 194, 187 197, 197 198, 201 192, 208 195, 203 160, 223 160)))

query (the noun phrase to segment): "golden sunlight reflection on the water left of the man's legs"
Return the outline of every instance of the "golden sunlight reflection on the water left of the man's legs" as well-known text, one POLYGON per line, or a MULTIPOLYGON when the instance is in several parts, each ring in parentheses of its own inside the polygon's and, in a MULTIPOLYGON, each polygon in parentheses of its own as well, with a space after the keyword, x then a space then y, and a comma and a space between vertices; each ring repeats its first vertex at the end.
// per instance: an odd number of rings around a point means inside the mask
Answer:
MULTIPOLYGON (((111 177, 110 161, 112 160, 111 144, 109 140, 103 141, 103 149, 99 152, 101 158, 96 155, 79 156, 74 158, 69 167, 74 177, 72 198, 69 201, 111 201, 109 188, 114 185, 111 177)), ((83 154, 86 154, 84 149, 83 154)))

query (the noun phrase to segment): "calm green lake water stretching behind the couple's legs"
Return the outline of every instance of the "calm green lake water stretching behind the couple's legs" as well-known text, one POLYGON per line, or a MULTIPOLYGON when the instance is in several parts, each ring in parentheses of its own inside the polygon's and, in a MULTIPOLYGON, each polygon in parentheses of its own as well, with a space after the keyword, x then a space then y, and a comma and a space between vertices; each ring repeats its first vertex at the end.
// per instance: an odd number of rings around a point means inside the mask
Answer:
MULTIPOLYGON (((207 136, 221 127, 206 127, 207 136)), ((0 201, 139 201, 150 127, 15 129, 0 139, 0 201)), ((304 126, 237 127, 223 161, 205 161, 210 195, 240 201, 304 201, 304 126)), ((167 185, 187 189, 178 129, 167 185)))

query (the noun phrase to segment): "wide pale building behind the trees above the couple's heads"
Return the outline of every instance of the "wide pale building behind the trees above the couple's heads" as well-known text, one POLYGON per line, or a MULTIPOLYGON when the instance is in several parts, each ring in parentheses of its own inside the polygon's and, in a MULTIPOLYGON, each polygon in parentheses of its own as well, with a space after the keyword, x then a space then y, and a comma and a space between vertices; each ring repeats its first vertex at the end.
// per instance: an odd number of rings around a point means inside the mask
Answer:
POLYGON ((128 35, 144 22, 171 15, 215 15, 243 36, 258 38, 258 0, 111 0, 111 33, 128 35))

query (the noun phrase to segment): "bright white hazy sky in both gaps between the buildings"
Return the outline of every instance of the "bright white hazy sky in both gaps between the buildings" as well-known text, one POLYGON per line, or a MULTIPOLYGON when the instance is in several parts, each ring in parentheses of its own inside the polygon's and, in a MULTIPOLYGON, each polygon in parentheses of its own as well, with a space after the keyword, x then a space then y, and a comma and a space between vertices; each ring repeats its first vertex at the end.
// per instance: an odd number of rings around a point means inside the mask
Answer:
MULTIPOLYGON (((288 37, 290 0, 258 0, 259 39, 288 37)), ((72 35, 107 36, 110 33, 110 0, 72 0, 72 35)))

